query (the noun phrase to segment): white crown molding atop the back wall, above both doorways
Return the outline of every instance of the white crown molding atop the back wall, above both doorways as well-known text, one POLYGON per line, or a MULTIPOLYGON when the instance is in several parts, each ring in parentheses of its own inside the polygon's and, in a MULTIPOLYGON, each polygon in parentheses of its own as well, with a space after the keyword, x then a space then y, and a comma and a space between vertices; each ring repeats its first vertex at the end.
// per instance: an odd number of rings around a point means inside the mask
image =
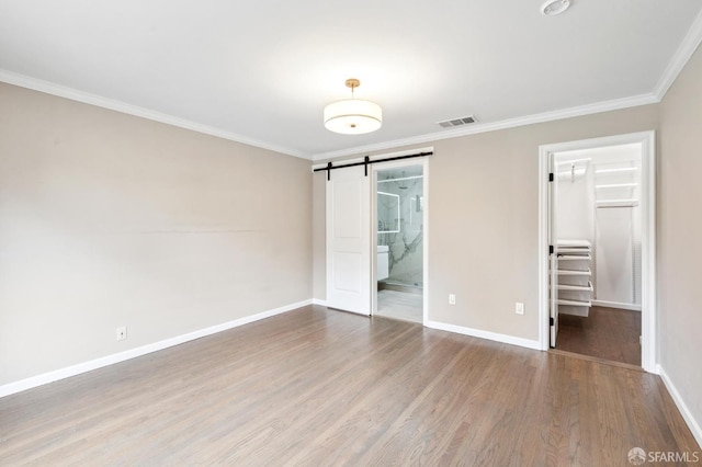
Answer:
POLYGON ((320 160, 335 159, 338 157, 354 156, 362 152, 387 150, 387 149, 393 149, 400 146, 420 145, 426 143, 438 141, 441 139, 457 138, 461 136, 476 135, 478 133, 496 132, 498 129, 514 128, 518 126, 533 125, 536 123, 544 123, 544 122, 553 122, 556 119, 571 118, 576 116, 597 114, 601 112, 616 111, 621 109, 635 107, 639 105, 655 104, 658 102, 659 102, 659 99, 657 99, 653 93, 633 95, 631 98, 615 99, 612 101, 598 102, 595 104, 562 109, 562 110, 552 111, 552 112, 543 112, 540 114, 526 115, 523 117, 508 118, 500 122, 469 125, 465 128, 449 129, 445 132, 430 133, 426 135, 415 136, 411 138, 395 139, 392 141, 378 143, 374 145, 359 146, 359 147, 349 148, 349 149, 341 149, 338 151, 317 153, 313 156, 312 160, 317 162, 320 160))

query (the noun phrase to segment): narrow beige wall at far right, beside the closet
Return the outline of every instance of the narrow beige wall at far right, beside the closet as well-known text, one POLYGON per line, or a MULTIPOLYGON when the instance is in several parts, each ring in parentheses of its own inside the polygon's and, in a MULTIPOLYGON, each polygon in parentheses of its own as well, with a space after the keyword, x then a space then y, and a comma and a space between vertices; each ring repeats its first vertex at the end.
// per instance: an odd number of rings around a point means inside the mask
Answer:
POLYGON ((660 364, 702 424, 702 48, 660 104, 660 364))

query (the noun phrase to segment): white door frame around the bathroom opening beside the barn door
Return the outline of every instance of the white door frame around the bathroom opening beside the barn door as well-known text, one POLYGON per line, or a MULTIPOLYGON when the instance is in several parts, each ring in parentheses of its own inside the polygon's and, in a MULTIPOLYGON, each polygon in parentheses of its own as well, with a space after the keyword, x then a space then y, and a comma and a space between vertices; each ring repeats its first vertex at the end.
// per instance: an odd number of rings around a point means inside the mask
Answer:
MULTIPOLYGON (((422 148, 422 150, 431 150, 432 148, 422 148)), ((377 155, 377 158, 396 157, 406 153, 417 152, 417 149, 410 151, 392 152, 377 155)), ((422 326, 427 326, 429 321, 429 158, 422 157, 417 159, 406 159, 401 161, 378 162, 372 166, 371 179, 371 249, 373 250, 371 261, 371 316, 377 311, 377 172, 387 169, 401 169, 403 167, 421 166, 422 169, 422 191, 424 205, 422 210, 422 326)))

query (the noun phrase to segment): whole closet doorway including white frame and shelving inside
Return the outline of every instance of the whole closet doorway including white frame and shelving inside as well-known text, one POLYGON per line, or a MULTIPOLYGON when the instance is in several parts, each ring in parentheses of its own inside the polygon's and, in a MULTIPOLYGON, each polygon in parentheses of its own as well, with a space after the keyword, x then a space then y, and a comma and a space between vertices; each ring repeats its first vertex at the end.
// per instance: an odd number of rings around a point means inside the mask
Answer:
POLYGON ((653 137, 542 147, 551 348, 655 371, 653 137))

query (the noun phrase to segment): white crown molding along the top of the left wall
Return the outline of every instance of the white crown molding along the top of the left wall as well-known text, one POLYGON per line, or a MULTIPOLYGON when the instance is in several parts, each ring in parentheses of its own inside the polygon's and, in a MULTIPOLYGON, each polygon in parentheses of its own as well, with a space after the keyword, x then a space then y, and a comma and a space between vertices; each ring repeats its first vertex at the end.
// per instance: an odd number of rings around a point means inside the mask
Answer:
POLYGON ((230 141, 241 143, 245 145, 253 146, 261 149, 268 149, 273 152, 280 152, 286 156, 293 156, 301 159, 310 160, 310 157, 304 152, 284 148, 269 143, 260 141, 258 139, 247 138, 235 133, 230 133, 220 128, 216 128, 208 125, 191 122, 184 118, 179 118, 173 115, 168 115, 160 112, 155 112, 148 109, 139 107, 137 105, 127 104, 114 99, 103 98, 101 95, 91 94, 88 92, 79 91, 77 89, 68 88, 65 86, 56 84, 49 81, 31 78, 24 75, 14 73, 0 69, 0 81, 8 84, 18 86, 20 88, 26 88, 34 91, 44 92, 59 98, 69 99, 71 101, 82 102, 83 104, 95 105, 98 107, 107 109, 115 112, 121 112, 128 115, 134 115, 141 118, 151 119, 154 122, 165 123, 167 125, 177 126, 179 128, 190 129, 193 132, 202 133, 204 135, 216 136, 218 138, 228 139, 230 141))

